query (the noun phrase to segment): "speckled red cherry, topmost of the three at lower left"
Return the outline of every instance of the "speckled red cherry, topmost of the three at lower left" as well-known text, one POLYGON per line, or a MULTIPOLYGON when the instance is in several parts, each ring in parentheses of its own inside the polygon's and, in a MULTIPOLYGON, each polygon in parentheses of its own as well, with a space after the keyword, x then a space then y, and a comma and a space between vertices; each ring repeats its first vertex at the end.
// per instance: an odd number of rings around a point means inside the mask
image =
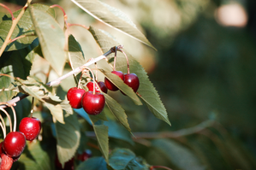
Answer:
POLYGON ((24 133, 27 140, 33 141, 33 139, 39 136, 39 132, 41 131, 41 121, 34 117, 23 118, 19 130, 24 133))

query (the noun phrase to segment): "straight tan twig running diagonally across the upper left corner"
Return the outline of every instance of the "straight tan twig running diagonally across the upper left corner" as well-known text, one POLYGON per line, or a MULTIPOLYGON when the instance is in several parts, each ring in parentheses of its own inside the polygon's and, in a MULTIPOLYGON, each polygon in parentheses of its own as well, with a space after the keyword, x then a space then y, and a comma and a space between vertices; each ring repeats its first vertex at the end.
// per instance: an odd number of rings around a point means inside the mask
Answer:
POLYGON ((12 26, 9 28, 9 32, 3 42, 3 45, 0 48, 0 57, 3 54, 3 51, 5 50, 6 46, 9 44, 9 39, 11 37, 11 35, 13 34, 13 32, 15 31, 15 26, 18 24, 18 22, 21 20, 21 16, 24 15, 28 4, 31 3, 32 0, 27 0, 27 3, 25 4, 25 6, 21 9, 20 14, 17 16, 17 18, 15 18, 15 20, 13 20, 12 22, 12 26))

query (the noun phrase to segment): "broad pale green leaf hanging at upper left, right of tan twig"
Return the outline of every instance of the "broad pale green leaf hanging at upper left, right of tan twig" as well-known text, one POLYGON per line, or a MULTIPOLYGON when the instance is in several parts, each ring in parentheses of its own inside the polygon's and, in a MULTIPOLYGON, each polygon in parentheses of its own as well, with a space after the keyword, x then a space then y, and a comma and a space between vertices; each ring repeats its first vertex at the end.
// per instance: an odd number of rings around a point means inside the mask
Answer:
POLYGON ((48 13, 35 9, 33 6, 29 6, 29 12, 45 59, 50 62, 58 75, 62 75, 66 62, 63 29, 48 13))

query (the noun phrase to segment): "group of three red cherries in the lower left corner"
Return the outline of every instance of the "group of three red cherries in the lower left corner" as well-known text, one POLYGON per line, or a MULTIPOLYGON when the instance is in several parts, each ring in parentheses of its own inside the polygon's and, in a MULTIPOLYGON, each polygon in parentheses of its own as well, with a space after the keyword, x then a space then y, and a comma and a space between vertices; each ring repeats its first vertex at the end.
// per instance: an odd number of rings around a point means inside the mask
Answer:
POLYGON ((25 149, 26 140, 33 141, 39 136, 41 122, 37 118, 23 118, 19 126, 20 132, 9 132, 0 144, 1 169, 9 169, 17 161, 25 149))

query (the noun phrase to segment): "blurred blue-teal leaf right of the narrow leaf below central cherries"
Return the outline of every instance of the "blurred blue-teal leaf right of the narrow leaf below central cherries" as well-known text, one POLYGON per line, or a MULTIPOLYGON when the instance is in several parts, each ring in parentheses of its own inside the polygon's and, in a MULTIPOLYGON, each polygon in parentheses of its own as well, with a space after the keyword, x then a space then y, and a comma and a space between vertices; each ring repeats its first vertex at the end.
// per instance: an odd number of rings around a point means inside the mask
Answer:
POLYGON ((124 140, 129 144, 134 144, 131 134, 116 121, 104 121, 104 125, 109 127, 109 137, 124 140))

